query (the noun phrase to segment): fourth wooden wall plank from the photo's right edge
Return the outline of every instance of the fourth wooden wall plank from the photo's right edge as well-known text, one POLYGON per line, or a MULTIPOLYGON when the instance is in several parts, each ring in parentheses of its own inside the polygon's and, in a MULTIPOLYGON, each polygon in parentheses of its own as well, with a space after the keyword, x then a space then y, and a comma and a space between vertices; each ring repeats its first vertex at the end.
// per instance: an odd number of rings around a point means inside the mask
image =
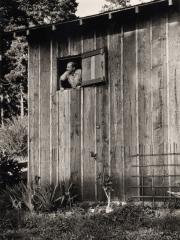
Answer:
POLYGON ((137 186, 137 182, 132 179, 134 168, 132 168, 133 155, 138 142, 137 129, 137 77, 136 77, 136 26, 133 24, 124 26, 123 41, 123 99, 124 99, 124 146, 125 146, 125 191, 126 198, 137 195, 137 189, 130 186, 137 186))

